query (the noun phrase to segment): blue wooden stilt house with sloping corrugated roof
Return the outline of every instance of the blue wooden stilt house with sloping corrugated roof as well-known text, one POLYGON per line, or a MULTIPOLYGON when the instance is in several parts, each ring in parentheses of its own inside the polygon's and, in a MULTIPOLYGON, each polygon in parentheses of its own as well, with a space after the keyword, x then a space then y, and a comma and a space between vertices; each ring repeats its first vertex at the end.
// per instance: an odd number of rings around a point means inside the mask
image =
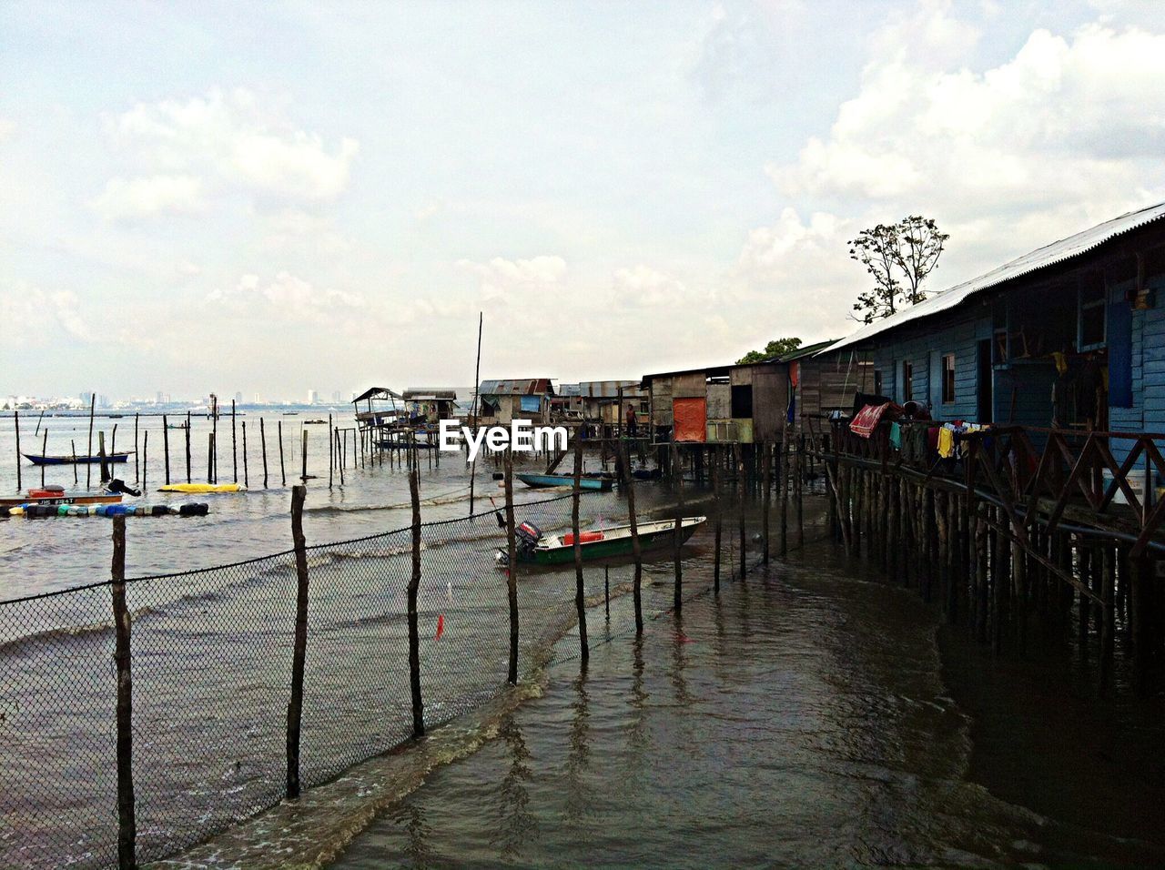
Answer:
POLYGON ((875 392, 922 402, 940 420, 1165 431, 1165 203, 1046 245, 822 353, 860 359, 875 392))

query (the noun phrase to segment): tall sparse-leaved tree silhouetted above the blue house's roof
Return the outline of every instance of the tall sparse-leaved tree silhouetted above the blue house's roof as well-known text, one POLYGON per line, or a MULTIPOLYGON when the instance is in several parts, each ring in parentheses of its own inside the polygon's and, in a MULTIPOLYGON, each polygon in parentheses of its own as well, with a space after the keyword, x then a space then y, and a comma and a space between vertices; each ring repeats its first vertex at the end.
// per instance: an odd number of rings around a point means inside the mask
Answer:
POLYGON ((866 267, 874 288, 859 293, 855 320, 874 323, 926 298, 922 289, 951 236, 931 218, 911 214, 897 224, 878 224, 849 240, 849 257, 866 267))

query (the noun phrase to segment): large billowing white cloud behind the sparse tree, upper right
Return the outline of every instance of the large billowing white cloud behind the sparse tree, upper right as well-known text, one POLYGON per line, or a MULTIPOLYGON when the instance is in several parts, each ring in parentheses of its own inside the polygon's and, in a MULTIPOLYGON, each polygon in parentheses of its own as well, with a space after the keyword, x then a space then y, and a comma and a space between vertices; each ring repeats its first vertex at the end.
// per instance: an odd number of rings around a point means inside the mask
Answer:
POLYGON ((878 221, 922 213, 951 233, 938 290, 1165 198, 1165 35, 1039 29, 980 70, 966 62, 976 40, 948 3, 919 3, 871 37, 827 134, 767 167, 796 205, 751 231, 737 276, 775 298, 791 290, 782 316, 850 331, 867 278, 845 241, 878 221))

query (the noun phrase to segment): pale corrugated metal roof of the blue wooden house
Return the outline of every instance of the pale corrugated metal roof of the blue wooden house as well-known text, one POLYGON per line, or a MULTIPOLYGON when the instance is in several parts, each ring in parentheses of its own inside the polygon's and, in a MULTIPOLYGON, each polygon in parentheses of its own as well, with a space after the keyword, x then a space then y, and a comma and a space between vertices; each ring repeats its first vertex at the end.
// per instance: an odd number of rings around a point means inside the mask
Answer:
POLYGON ((1157 205, 1151 205, 1146 208, 1129 212, 1128 214, 1122 214, 1121 217, 1113 218, 1111 220, 1106 220, 1103 224, 1097 224, 1090 229, 1085 229, 1082 233, 1069 235, 1067 239, 1060 239, 1051 245, 1045 245, 1043 248, 1037 248, 1029 254, 1016 257, 1003 266, 991 269, 991 271, 986 275, 980 275, 977 278, 972 278, 962 284, 956 284, 955 287, 944 290, 938 296, 932 296, 930 299, 920 302, 917 305, 912 305, 909 309, 904 309, 891 317, 887 317, 882 320, 869 324, 868 326, 863 326, 857 330, 857 332, 834 342, 820 353, 825 353, 826 351, 838 351, 842 347, 866 341, 867 339, 887 332, 888 330, 897 328, 903 324, 913 323, 915 320, 919 320, 924 317, 931 317, 932 314, 949 311, 955 305, 959 305, 961 302, 965 302, 968 297, 977 292, 989 290, 990 288, 1002 284, 1005 281, 1011 281, 1024 275, 1030 275, 1031 273, 1040 269, 1046 269, 1047 267, 1064 262, 1065 260, 1071 260, 1074 256, 1079 256, 1080 254, 1085 254, 1093 248, 1103 245, 1122 233, 1151 224, 1155 220, 1160 220, 1163 217, 1165 217, 1165 203, 1158 203, 1157 205))

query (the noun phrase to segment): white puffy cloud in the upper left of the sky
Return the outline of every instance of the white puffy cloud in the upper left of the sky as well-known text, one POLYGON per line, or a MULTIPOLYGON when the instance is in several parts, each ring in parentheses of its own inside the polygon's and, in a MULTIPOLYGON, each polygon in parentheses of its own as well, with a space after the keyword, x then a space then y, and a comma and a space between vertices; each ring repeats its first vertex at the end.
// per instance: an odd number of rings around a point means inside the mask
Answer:
POLYGON ((360 150, 354 139, 329 144, 318 133, 299 129, 245 89, 142 102, 107 115, 105 127, 114 146, 148 172, 305 204, 339 197, 360 150))

